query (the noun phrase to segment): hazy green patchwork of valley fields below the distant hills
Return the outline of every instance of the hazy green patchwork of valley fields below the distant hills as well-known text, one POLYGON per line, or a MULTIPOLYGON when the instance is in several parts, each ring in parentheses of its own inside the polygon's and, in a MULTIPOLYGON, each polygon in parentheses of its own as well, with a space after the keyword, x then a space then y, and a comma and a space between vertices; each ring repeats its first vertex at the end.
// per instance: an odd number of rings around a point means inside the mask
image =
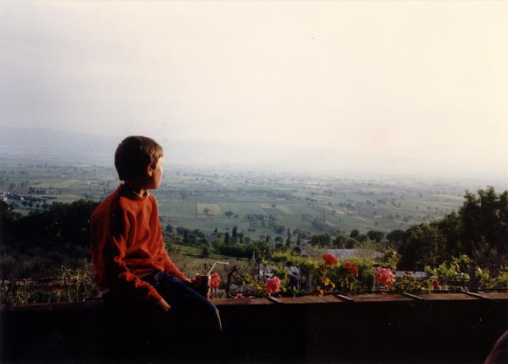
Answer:
MULTIPOLYGON (((0 191, 24 214, 41 207, 21 205, 23 201, 8 193, 28 199, 46 196, 47 203, 72 202, 102 200, 117 187, 112 166, 54 160, 34 166, 23 157, 8 162, 0 165, 0 191)), ((404 178, 293 176, 279 180, 262 172, 174 167, 153 193, 165 224, 205 232, 215 228, 231 231, 237 226, 244 235, 257 239, 260 235, 274 237, 275 228, 281 226, 308 232, 409 228, 450 213, 462 205, 466 189, 477 188, 485 186, 404 178), (227 211, 233 213, 229 218, 224 215, 227 211)))

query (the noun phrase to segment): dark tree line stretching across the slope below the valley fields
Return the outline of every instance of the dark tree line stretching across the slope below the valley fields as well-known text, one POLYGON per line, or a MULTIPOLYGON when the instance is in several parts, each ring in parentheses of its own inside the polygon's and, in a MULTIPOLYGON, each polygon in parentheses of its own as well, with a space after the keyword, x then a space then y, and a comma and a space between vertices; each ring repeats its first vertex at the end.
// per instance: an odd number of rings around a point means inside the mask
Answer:
MULTIPOLYGON (((46 210, 23 216, 0 201, 1 278, 50 274, 60 264, 90 258, 90 215, 97 205, 92 200, 53 203, 46 210)), ((252 257, 253 252, 274 249, 298 254, 301 240, 308 237, 308 243, 318 247, 394 247, 400 255, 399 269, 423 269, 462 254, 482 267, 497 269, 508 262, 508 191, 497 194, 492 187, 477 194, 466 191, 463 205, 453 213, 386 236, 379 230, 362 233, 355 229, 333 238, 328 233, 306 236, 298 229, 287 229, 287 236, 277 237, 272 245, 269 236, 253 241, 236 227, 231 234, 215 231, 213 241, 198 229, 173 231, 168 225, 165 230, 170 244, 202 247, 203 255, 214 250, 221 255, 252 257)))

